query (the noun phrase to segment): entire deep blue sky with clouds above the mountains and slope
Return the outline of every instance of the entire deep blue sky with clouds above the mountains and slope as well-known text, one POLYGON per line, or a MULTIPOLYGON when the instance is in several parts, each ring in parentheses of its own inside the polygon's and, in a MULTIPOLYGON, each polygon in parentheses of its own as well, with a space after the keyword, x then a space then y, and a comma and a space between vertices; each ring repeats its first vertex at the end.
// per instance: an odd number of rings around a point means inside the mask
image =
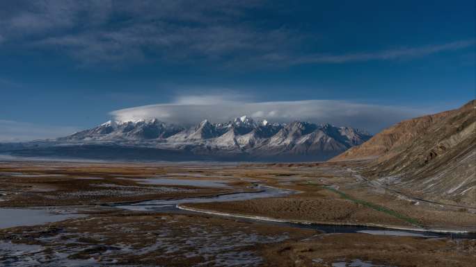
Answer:
POLYGON ((1 1, 0 140, 250 103, 377 132, 475 98, 475 56, 473 0, 1 1))

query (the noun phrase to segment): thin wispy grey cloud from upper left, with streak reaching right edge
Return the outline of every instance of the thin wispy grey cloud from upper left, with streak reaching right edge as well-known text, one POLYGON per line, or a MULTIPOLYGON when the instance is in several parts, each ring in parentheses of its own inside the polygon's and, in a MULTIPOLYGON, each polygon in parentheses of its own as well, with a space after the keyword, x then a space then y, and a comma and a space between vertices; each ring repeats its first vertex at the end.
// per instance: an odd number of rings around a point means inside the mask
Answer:
POLYGON ((5 1, 0 2, 0 45, 13 42, 22 49, 60 51, 81 64, 154 58, 170 62, 207 60, 232 67, 399 60, 475 45, 475 40, 457 40, 397 49, 319 53, 315 34, 283 26, 260 26, 269 22, 266 18, 253 22, 246 19, 248 10, 269 8, 267 4, 260 0, 5 1), (302 47, 309 44, 315 49, 303 52, 302 47))

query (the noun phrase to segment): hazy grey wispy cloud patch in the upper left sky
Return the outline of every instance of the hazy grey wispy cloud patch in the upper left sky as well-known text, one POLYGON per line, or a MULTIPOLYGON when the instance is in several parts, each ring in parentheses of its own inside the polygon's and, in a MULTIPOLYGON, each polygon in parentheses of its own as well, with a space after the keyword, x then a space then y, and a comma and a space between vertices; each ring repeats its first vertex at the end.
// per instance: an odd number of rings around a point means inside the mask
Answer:
POLYGON ((216 60, 270 51, 293 39, 282 28, 239 22, 260 2, 19 0, 0 3, 0 34, 6 42, 62 51, 82 63, 141 61, 151 53, 161 60, 216 60), (127 19, 111 23, 118 17, 127 19))

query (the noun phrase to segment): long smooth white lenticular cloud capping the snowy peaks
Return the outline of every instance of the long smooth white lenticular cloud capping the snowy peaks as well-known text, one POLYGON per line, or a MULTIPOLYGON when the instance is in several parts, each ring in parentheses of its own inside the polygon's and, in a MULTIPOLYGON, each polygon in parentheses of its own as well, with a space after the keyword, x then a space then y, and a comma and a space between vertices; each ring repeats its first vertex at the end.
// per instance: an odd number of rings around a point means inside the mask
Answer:
POLYGON ((370 105, 349 101, 244 102, 218 96, 194 96, 186 100, 180 98, 174 103, 115 110, 110 114, 117 121, 155 118, 164 122, 189 125, 203 119, 219 122, 229 121, 239 115, 248 115, 254 119, 279 122, 332 122, 335 125, 365 128, 370 132, 378 132, 392 123, 416 117, 425 114, 425 112, 406 107, 370 105))

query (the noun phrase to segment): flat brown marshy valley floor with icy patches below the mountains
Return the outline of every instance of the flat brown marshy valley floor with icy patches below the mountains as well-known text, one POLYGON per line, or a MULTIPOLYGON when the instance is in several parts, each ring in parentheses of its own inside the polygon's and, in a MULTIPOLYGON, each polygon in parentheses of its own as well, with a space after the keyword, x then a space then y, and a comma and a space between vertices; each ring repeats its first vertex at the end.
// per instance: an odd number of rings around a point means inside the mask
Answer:
POLYGON ((418 200, 358 170, 358 162, 0 162, 0 265, 473 264, 474 234, 458 233, 476 232, 476 209, 418 200), (278 193, 255 197, 270 187, 278 193), (214 201, 223 195, 246 198, 214 201))

